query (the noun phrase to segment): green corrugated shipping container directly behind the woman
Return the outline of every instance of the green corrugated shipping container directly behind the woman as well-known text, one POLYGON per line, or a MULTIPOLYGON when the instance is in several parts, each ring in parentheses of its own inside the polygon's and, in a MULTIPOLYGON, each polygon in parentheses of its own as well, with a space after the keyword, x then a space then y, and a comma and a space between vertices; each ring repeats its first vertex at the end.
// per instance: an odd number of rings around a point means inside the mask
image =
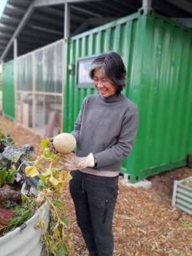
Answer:
POLYGON ((124 95, 140 114, 138 135, 121 172, 136 182, 185 165, 192 153, 191 38, 190 29, 140 12, 68 38, 64 131, 74 129, 84 97, 97 93, 93 86, 77 86, 77 61, 115 51, 127 68, 124 95))

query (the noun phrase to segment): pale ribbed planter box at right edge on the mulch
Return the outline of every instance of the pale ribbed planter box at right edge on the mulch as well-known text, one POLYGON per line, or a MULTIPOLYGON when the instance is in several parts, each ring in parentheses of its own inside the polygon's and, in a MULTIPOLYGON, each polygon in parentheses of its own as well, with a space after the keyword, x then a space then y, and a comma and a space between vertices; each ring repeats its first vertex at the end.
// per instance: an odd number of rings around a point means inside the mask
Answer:
POLYGON ((192 215, 192 177, 175 180, 172 205, 192 215))

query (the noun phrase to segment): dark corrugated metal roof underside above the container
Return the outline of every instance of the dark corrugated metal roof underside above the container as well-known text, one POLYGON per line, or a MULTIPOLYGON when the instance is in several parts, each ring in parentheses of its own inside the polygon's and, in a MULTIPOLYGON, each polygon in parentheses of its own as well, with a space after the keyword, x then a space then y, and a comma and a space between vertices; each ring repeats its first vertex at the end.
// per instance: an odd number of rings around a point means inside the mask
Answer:
MULTIPOLYGON (((152 8, 164 16, 192 17, 192 0, 143 0, 151 1, 152 8)), ((13 59, 10 40, 17 29, 18 56, 63 38, 66 2, 70 4, 70 35, 130 15, 143 4, 142 0, 8 0, 0 20, 1 57, 10 44, 3 60, 13 59)))

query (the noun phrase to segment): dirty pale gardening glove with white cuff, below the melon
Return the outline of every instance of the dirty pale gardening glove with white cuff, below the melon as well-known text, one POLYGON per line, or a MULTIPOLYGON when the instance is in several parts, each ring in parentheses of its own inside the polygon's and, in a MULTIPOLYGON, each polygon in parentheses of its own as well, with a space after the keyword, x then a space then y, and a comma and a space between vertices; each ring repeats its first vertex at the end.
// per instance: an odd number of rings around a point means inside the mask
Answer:
POLYGON ((58 156, 60 156, 59 164, 61 164, 61 168, 68 171, 93 167, 95 165, 95 159, 92 153, 86 157, 77 157, 72 152, 69 154, 58 153, 58 156))

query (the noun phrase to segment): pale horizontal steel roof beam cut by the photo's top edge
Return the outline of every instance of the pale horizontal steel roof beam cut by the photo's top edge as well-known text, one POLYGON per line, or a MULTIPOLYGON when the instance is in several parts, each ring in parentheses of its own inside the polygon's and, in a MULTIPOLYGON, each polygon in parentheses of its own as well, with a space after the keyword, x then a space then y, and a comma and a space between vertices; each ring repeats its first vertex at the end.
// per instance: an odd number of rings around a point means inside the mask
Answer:
POLYGON ((86 3, 86 2, 96 2, 101 0, 35 0, 34 6, 41 7, 41 6, 49 6, 49 5, 56 5, 56 4, 71 4, 71 3, 86 3))

